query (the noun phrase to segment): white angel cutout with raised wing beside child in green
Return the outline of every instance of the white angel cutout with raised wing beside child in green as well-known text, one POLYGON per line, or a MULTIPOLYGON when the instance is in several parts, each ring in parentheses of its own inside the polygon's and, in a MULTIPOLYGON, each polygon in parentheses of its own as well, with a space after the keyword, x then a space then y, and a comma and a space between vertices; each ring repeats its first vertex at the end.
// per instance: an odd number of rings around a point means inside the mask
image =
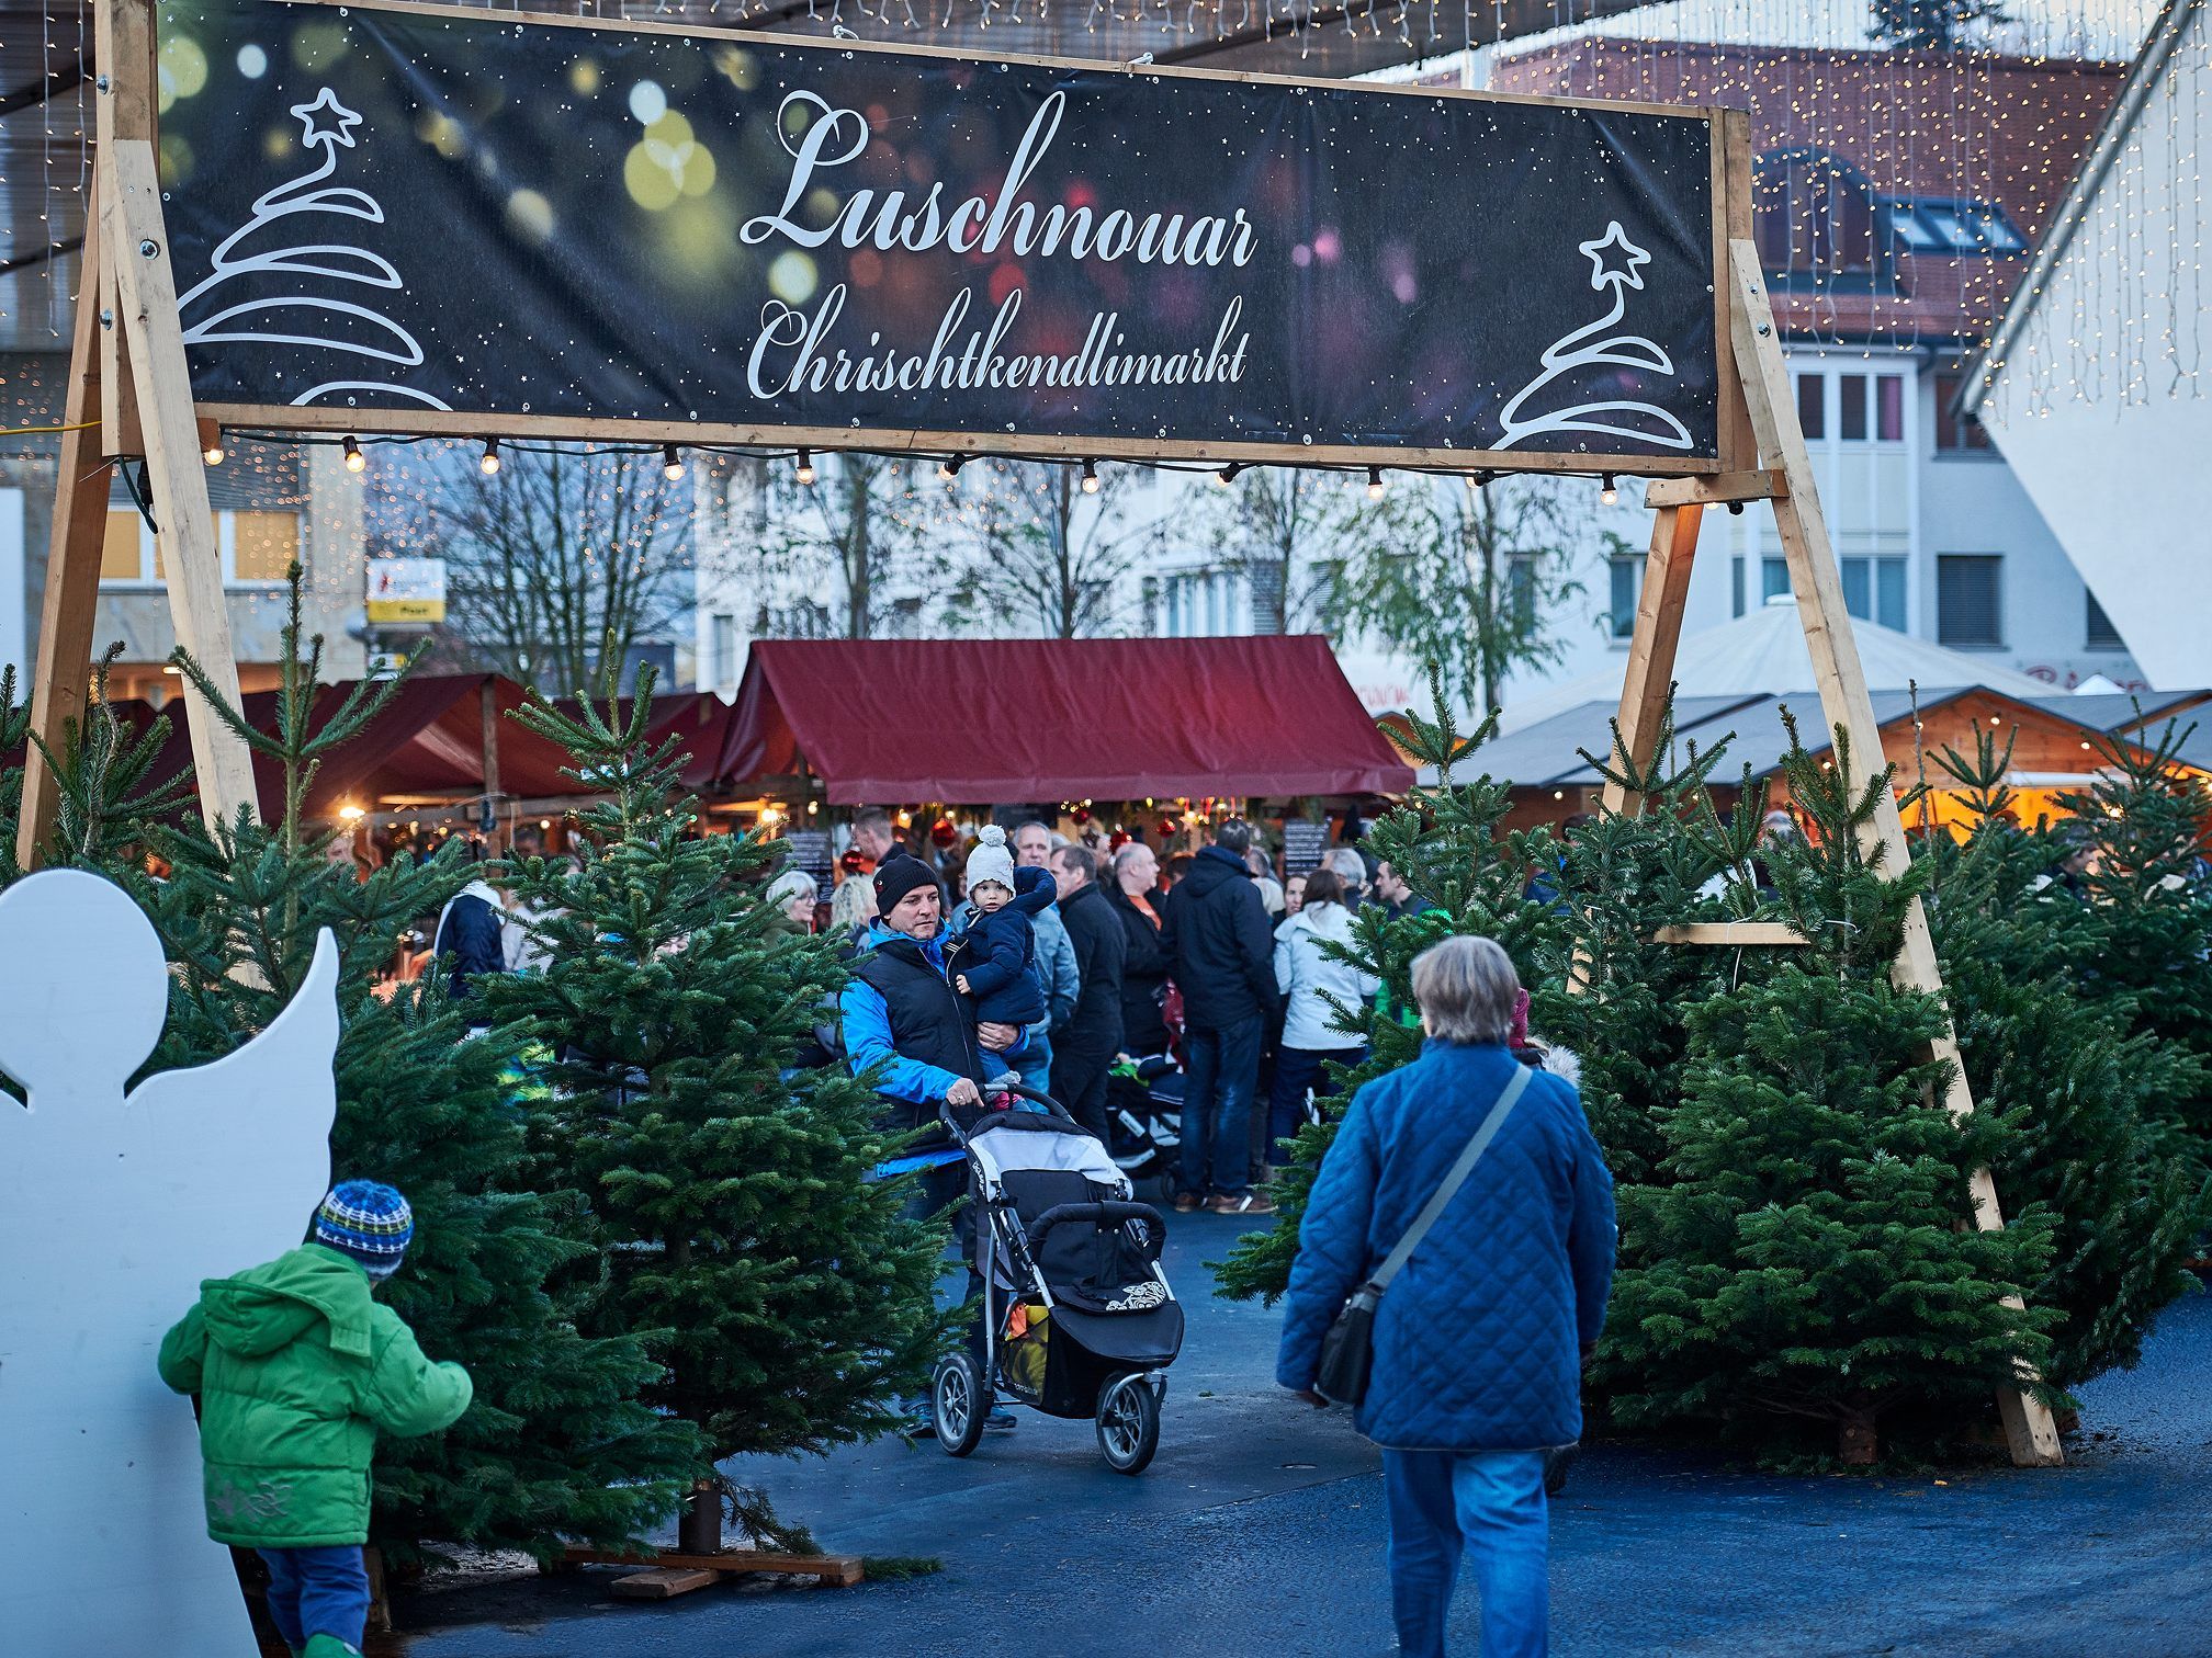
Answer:
POLYGON ((330 1183, 338 948, 212 1066, 124 1083, 168 1019, 137 904, 75 869, 0 893, 0 1649, 232 1658, 192 1404, 155 1375, 201 1278, 281 1256, 330 1183), (100 1561, 88 1585, 84 1561, 100 1561))

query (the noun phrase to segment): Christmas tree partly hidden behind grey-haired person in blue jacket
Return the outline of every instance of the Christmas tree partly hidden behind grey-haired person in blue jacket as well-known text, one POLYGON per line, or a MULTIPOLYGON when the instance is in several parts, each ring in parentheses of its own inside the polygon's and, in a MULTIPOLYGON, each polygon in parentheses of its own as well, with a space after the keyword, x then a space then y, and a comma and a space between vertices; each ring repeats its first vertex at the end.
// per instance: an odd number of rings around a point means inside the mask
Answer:
POLYGON ((1524 984, 1535 984, 1546 964, 1557 968, 1566 959, 1564 917, 1546 904, 1522 898, 1528 871, 1551 869, 1557 862, 1551 838, 1544 831, 1511 836, 1504 831, 1504 816, 1513 807, 1511 783, 1489 776, 1458 783, 1453 776, 1453 767, 1462 767, 1498 730, 1495 718, 1484 721, 1473 736, 1460 736, 1433 676, 1431 701, 1436 714, 1431 718, 1407 714, 1405 730, 1394 732, 1394 741, 1416 765, 1433 765, 1438 783, 1416 787, 1405 805, 1378 818, 1365 847, 1405 875, 1436 909, 1400 917, 1391 917, 1380 904, 1360 904, 1356 911, 1347 955, 1383 979, 1371 1008, 1345 1010, 1345 1026, 1365 1030, 1367 1063, 1343 1074, 1345 1085, 1325 1103, 1318 1123, 1298 1130, 1292 1161, 1274 1183, 1281 1218, 1270 1231, 1239 1240, 1221 1265, 1223 1295, 1261 1295, 1272 1302, 1290 1284, 1290 1262, 1298 1253, 1298 1216, 1305 1214, 1307 1192, 1336 1136, 1343 1108, 1352 1101, 1352 1090, 1420 1052, 1420 1015, 1413 1010, 1416 955, 1455 933, 1493 937, 1513 957, 1524 984))

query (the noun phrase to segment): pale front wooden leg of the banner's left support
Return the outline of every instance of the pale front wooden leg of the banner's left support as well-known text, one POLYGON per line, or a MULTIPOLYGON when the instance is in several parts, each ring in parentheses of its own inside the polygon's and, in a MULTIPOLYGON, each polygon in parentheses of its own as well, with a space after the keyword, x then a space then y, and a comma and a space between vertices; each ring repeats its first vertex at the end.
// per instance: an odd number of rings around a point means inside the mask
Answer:
MULTIPOLYGON (((135 7, 119 7, 128 13, 135 7)), ((153 144, 119 137, 97 159, 100 237, 115 263, 122 327, 131 347, 146 436, 146 473, 153 484, 155 539, 168 579, 168 610, 177 643, 208 674, 217 696, 239 705, 239 663, 230 646, 223 601, 221 548, 208 506, 208 473, 199 458, 192 380, 177 321, 177 281, 168 263, 168 225, 153 144)), ((184 718, 192 738, 199 809, 210 825, 252 809, 250 752, 215 714, 199 690, 184 683, 184 718)))

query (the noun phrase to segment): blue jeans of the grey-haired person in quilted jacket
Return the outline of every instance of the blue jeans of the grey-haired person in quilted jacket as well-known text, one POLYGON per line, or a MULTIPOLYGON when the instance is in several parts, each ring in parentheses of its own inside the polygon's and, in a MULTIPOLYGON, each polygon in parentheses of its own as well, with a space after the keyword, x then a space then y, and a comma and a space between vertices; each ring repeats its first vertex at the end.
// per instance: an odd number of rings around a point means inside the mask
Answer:
POLYGON ((1482 1596, 1482 1658, 1548 1651, 1542 1450, 1385 1450, 1389 1598, 1405 1658, 1444 1658, 1444 1614, 1460 1556, 1482 1596))

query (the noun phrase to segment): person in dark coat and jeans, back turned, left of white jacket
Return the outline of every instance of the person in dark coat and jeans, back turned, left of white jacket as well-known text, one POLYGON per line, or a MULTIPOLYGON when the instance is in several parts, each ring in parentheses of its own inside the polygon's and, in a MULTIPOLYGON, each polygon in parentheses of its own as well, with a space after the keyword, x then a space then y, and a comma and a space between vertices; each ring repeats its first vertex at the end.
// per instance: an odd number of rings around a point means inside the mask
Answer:
POLYGON ((1252 825, 1230 818, 1168 893, 1161 944, 1183 990, 1183 1192, 1177 1209, 1272 1214, 1252 1192, 1252 1096, 1276 1017, 1274 928, 1245 869, 1252 825))

